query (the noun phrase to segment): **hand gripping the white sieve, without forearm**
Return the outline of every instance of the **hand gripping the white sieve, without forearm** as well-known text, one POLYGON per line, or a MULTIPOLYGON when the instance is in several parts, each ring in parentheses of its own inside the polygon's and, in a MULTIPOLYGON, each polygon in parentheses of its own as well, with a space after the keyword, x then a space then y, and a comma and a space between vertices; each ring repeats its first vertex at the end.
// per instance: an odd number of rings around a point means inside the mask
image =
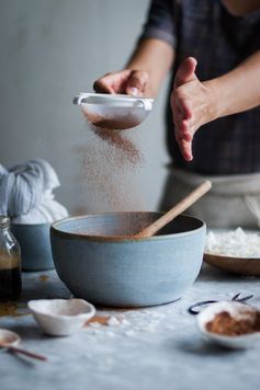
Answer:
POLYGON ((143 96, 148 82, 148 73, 144 70, 124 69, 106 73, 94 81, 93 89, 99 93, 126 93, 143 96))

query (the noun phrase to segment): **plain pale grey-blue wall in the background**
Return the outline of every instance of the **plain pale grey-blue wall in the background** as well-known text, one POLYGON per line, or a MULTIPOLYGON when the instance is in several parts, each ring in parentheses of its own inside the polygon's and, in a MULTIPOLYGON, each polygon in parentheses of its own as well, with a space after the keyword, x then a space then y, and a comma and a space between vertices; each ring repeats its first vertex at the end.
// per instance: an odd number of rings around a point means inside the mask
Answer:
POLYGON ((124 66, 147 8, 147 0, 0 0, 0 163, 49 161, 61 182, 56 198, 70 214, 157 207, 168 161, 166 87, 144 124, 127 131, 145 161, 123 174, 106 167, 117 205, 82 172, 93 139, 71 104, 94 79, 124 66))

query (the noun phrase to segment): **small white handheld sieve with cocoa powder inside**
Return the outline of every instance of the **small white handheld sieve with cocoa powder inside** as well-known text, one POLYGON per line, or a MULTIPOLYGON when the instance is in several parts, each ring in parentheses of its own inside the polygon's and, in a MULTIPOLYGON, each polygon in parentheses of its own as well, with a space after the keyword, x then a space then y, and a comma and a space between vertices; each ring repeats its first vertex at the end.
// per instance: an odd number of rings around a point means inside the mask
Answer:
POLYGON ((80 105, 88 121, 98 128, 124 130, 139 125, 152 110, 154 99, 109 93, 80 93, 80 105))

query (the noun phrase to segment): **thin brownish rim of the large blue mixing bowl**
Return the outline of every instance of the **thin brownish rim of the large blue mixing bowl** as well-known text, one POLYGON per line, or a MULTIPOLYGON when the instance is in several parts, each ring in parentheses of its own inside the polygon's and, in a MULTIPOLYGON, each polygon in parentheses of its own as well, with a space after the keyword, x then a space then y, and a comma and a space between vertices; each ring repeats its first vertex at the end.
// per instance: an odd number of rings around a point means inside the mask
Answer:
POLYGON ((63 237, 65 239, 78 239, 78 240, 86 240, 88 239, 88 241, 93 241, 93 242, 114 242, 114 243, 122 243, 122 242, 143 242, 143 241, 162 241, 162 240, 171 240, 172 237, 186 237, 186 236, 194 236, 200 230, 206 231, 206 223, 204 222, 204 220, 202 220, 201 218, 197 217, 193 217, 193 216, 189 216, 185 214, 181 214, 179 217, 185 217, 185 218, 190 218, 190 219, 195 219, 197 221, 201 222, 201 227, 193 229, 193 230, 189 230, 189 231, 184 231, 184 232, 179 232, 179 233, 172 233, 172 234, 162 234, 162 236, 152 236, 149 238, 131 238, 131 237, 117 237, 117 236, 91 236, 91 234, 82 234, 82 233, 77 233, 77 232, 68 232, 68 231, 61 231, 58 229, 58 226, 63 222, 67 222, 69 220, 81 220, 81 219, 86 219, 86 218, 91 218, 91 217, 101 217, 101 216, 116 216, 120 214, 138 214, 138 213, 146 213, 146 214, 157 214, 157 215, 163 215, 162 211, 114 211, 114 213, 93 213, 93 214, 86 214, 86 215, 81 215, 81 216, 76 216, 76 217, 66 217, 63 219, 59 219, 55 222, 53 222, 50 225, 50 237, 54 236, 58 236, 58 237, 63 237))

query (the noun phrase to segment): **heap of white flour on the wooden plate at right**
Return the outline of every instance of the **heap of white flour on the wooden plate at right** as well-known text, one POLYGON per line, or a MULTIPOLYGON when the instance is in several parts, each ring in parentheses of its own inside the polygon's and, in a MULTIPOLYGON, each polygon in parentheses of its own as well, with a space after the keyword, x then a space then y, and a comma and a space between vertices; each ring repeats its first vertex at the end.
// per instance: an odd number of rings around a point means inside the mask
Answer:
POLYGON ((241 228, 228 232, 210 231, 205 252, 231 257, 260 257, 260 234, 241 228))

